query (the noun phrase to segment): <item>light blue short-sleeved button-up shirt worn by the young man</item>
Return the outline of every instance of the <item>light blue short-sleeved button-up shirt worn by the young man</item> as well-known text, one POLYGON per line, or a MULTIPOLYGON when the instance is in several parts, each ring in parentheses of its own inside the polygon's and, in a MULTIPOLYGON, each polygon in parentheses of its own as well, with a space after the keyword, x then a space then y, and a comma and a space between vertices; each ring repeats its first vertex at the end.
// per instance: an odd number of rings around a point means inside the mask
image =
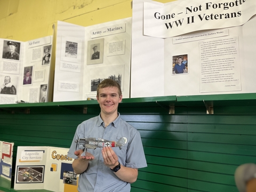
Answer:
MULTIPOLYGON (((140 133, 133 126, 125 122, 118 113, 114 122, 105 127, 100 115, 93 117, 79 124, 71 143, 68 156, 77 159, 74 155, 76 150, 75 141, 80 138, 98 138, 109 141, 118 141, 120 138, 127 138, 127 143, 120 150, 113 147, 120 164, 131 168, 146 167, 146 158, 140 138, 140 133)), ((78 149, 77 149, 78 150, 78 149)), ((78 191, 94 192, 128 192, 131 190, 130 183, 120 180, 109 167, 104 165, 101 148, 87 149, 94 156, 93 161, 89 162, 87 171, 81 173, 78 179, 78 191)))

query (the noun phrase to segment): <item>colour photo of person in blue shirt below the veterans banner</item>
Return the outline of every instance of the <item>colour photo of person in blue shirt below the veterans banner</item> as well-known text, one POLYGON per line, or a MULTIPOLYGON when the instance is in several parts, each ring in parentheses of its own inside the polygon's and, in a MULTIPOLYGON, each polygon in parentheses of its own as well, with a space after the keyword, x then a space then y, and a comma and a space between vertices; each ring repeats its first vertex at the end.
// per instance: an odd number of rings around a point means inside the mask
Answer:
POLYGON ((188 74, 188 54, 172 57, 172 75, 188 74))

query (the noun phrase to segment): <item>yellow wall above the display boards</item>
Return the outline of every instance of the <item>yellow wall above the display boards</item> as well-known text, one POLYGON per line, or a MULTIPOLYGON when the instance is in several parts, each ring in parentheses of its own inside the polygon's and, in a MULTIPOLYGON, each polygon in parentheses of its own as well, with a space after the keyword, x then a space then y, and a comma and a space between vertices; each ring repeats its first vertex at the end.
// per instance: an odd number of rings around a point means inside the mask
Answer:
POLYGON ((58 20, 91 26, 128 17, 132 0, 0 0, 0 38, 25 42, 49 36, 58 20))

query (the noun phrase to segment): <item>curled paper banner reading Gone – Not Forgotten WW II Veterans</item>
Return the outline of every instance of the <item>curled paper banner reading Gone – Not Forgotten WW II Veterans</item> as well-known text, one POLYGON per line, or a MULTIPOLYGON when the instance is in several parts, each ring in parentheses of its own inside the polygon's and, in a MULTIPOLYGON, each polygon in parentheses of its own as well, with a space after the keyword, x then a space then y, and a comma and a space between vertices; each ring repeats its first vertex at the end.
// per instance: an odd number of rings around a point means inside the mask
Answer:
POLYGON ((198 30, 241 26, 254 14, 254 0, 143 2, 143 35, 168 38, 198 30))

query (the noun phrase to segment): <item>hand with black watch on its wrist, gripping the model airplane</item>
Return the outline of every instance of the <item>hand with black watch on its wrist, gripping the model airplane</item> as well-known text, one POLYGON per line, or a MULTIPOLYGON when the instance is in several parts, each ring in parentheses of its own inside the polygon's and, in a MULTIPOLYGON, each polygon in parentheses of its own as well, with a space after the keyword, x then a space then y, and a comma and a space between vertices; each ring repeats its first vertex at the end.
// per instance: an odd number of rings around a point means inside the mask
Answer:
POLYGON ((118 156, 111 147, 103 147, 102 156, 104 159, 104 164, 110 169, 113 169, 116 165, 118 165, 118 156))

